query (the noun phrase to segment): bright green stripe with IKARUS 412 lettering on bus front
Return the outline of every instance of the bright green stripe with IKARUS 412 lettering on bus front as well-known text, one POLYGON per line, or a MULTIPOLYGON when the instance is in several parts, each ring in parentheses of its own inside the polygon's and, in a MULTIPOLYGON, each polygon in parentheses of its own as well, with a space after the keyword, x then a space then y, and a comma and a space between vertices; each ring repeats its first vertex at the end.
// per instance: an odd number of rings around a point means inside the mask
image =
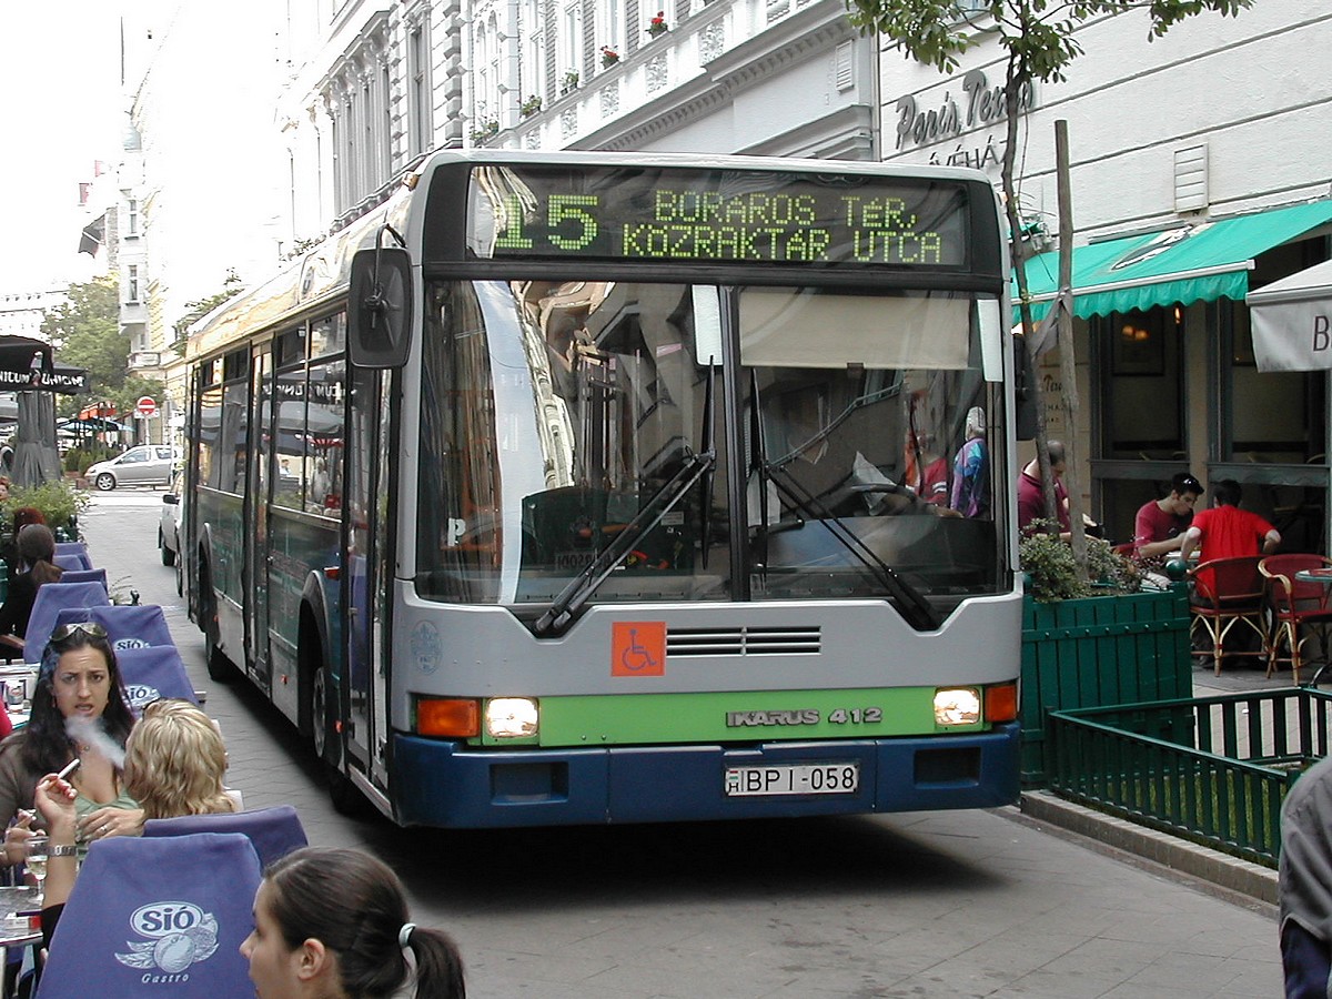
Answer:
POLYGON ((935 725, 935 690, 931 686, 547 697, 541 699, 537 741, 542 746, 617 746, 858 739, 987 727, 935 725))

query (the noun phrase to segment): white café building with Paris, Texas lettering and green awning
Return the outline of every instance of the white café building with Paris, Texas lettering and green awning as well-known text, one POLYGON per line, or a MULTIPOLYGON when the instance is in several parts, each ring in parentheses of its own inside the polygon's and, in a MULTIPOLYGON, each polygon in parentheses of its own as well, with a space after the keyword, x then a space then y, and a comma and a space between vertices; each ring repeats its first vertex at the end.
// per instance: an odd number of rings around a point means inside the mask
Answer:
MULTIPOLYGON (((1325 550, 1328 376, 1259 372, 1244 294, 1332 256, 1332 84, 1309 57, 1332 44, 1332 11, 1264 0, 1151 43, 1131 12, 1076 40, 1067 80, 1023 95, 1015 151, 1024 236, 1048 250, 1027 265, 1039 317, 1058 274, 1054 123, 1068 123, 1084 418, 1051 436, 1074 441, 1116 541, 1187 468, 1239 480, 1288 550, 1325 550)), ((998 185, 1003 73, 992 41, 950 75, 884 44, 884 159, 970 164, 998 185)), ((1059 370, 1046 354, 1047 392, 1059 370)))

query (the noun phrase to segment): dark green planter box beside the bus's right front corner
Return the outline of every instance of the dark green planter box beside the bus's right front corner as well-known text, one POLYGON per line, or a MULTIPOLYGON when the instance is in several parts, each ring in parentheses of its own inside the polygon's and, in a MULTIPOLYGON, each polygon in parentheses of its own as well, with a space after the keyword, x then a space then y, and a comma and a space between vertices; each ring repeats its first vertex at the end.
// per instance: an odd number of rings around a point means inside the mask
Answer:
POLYGON ((1188 590, 1038 603, 1022 609, 1022 783, 1042 787, 1046 714, 1193 695, 1188 590))

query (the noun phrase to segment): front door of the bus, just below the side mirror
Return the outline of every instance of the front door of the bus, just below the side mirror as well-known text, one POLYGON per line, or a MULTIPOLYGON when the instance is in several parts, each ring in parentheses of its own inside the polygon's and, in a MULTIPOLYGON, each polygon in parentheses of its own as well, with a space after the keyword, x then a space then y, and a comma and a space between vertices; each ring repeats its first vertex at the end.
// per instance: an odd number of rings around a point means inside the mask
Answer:
POLYGON ((354 369, 346 424, 346 753, 386 786, 389 543, 389 372, 354 369))

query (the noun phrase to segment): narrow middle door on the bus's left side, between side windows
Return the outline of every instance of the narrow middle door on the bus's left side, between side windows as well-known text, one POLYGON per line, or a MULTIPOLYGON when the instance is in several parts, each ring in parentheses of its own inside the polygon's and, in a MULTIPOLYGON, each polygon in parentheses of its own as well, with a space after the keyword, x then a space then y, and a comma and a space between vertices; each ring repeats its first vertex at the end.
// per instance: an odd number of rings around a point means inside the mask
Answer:
POLYGON ((250 426, 254 434, 250 440, 249 464, 250 482, 246 496, 250 497, 245 511, 250 529, 246 534, 245 551, 245 591, 249 594, 250 613, 245 622, 246 659, 252 675, 265 691, 273 671, 268 653, 268 484, 270 478, 272 397, 273 386, 269 376, 266 350, 254 353, 250 366, 250 426))

